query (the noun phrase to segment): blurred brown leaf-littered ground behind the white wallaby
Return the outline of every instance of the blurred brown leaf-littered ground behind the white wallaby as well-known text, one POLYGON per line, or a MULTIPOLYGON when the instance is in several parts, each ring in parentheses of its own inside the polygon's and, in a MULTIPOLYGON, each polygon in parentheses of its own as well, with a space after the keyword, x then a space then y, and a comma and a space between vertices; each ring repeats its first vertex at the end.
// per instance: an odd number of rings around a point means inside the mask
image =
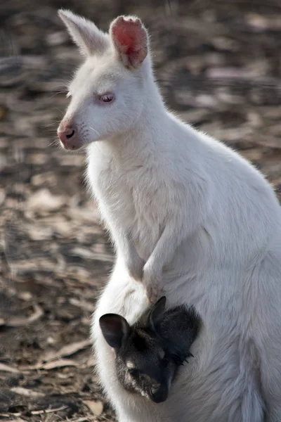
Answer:
POLYGON ((105 30, 119 14, 143 18, 169 107, 240 150, 281 194, 279 0, 1 1, 0 421, 115 421, 89 342, 112 249, 84 154, 55 141, 79 63, 62 6, 105 30))

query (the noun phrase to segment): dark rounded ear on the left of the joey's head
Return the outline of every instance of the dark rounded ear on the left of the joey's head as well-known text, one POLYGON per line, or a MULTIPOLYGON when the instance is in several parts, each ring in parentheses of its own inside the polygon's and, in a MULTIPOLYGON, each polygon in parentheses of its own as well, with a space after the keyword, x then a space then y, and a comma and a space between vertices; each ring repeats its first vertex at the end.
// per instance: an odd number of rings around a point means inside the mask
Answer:
POLYGON ((128 338, 131 331, 126 319, 117 314, 100 316, 100 329, 107 343, 115 349, 121 347, 122 342, 128 338))

